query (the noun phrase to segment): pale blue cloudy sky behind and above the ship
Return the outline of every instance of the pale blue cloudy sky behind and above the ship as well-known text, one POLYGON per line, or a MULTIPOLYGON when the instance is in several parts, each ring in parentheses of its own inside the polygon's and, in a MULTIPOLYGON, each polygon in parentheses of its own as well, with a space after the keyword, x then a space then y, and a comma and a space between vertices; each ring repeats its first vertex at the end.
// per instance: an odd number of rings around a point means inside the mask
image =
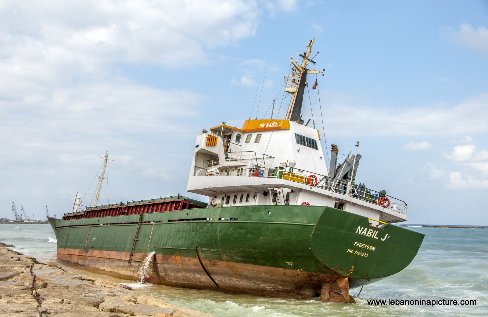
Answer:
POLYGON ((302 113, 325 155, 359 141, 356 182, 409 224, 488 225, 486 0, 3 0, 0 218, 90 205, 106 151, 101 204, 203 199, 185 191, 196 135, 273 100, 284 118, 311 38, 325 75, 302 113))

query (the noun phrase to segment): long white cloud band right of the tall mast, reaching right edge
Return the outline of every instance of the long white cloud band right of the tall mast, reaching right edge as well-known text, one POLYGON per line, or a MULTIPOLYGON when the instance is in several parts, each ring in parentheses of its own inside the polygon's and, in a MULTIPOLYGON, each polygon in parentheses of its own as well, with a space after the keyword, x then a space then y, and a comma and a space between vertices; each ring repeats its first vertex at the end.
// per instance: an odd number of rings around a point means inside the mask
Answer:
MULTIPOLYGON (((327 95, 324 99, 337 100, 327 95)), ((331 109, 329 116, 332 118, 341 117, 344 113, 354 113, 348 118, 348 122, 355 129, 344 130, 340 120, 332 120, 327 122, 326 132, 332 136, 355 136, 359 130, 366 136, 429 137, 488 132, 488 93, 468 98, 454 106, 440 103, 399 109, 351 105, 364 102, 346 99, 327 105, 331 109)), ((304 117, 307 115, 310 114, 304 113, 304 117)))

